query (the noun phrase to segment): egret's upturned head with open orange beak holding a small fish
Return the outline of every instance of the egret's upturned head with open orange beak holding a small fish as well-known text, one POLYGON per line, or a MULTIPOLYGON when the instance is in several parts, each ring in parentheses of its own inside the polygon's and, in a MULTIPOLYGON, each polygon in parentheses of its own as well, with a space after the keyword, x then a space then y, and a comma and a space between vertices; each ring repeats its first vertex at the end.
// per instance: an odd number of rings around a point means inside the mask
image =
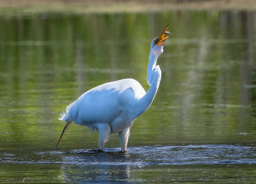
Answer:
POLYGON ((168 26, 169 24, 164 28, 164 31, 160 34, 160 36, 156 37, 152 41, 150 50, 152 54, 159 56, 161 53, 163 53, 164 42, 168 38, 168 36, 164 37, 164 35, 170 34, 170 32, 167 31, 168 26))

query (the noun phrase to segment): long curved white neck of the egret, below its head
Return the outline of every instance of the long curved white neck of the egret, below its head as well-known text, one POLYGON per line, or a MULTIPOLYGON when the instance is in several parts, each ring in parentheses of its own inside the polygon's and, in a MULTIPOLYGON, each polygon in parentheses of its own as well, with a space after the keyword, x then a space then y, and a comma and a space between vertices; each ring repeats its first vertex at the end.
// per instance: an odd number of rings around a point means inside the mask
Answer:
POLYGON ((159 55, 153 55, 150 52, 147 74, 147 82, 150 87, 146 95, 138 100, 138 108, 140 108, 138 116, 148 109, 156 96, 156 92, 159 87, 162 75, 159 65, 156 65, 158 56, 159 55))

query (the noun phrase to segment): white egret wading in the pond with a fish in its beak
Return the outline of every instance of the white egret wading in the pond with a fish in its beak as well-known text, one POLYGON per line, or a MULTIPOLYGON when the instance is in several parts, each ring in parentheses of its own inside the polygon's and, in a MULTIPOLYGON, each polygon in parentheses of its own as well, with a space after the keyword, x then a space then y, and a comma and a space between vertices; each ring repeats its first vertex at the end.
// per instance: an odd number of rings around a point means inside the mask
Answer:
POLYGON ((74 121, 76 124, 98 131, 99 151, 103 150, 109 135, 117 132, 121 150, 126 151, 132 123, 148 109, 159 87, 162 72, 159 65, 156 65, 156 61, 163 53, 164 42, 168 38, 168 36, 164 37, 164 34, 169 34, 166 31, 168 26, 151 42, 147 73, 147 82, 150 86, 148 92, 146 93, 141 84, 134 79, 108 82, 85 92, 68 105, 66 113, 60 114, 59 120, 67 123, 57 145, 65 134, 65 130, 74 121))

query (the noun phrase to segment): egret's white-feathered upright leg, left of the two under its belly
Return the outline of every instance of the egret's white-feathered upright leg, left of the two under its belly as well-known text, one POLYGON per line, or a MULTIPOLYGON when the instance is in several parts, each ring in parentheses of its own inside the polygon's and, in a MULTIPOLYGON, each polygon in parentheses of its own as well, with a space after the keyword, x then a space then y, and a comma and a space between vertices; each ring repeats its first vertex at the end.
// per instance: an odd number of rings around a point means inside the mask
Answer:
POLYGON ((99 144, 98 150, 102 151, 110 135, 111 127, 108 123, 98 124, 99 144))

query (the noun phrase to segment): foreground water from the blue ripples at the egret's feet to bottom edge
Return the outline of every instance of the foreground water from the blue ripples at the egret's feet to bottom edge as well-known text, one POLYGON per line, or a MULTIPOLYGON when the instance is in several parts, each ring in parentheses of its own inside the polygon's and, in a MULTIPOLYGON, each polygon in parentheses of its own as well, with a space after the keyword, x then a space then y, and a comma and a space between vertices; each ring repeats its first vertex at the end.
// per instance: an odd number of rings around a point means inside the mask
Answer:
POLYGON ((128 153, 118 150, 5 153, 1 155, 5 180, 1 180, 49 182, 43 177, 49 174, 56 183, 255 182, 254 145, 156 145, 129 147, 128 153), (8 171, 10 166, 15 170, 8 171), (14 180, 8 177, 19 172, 14 180))

